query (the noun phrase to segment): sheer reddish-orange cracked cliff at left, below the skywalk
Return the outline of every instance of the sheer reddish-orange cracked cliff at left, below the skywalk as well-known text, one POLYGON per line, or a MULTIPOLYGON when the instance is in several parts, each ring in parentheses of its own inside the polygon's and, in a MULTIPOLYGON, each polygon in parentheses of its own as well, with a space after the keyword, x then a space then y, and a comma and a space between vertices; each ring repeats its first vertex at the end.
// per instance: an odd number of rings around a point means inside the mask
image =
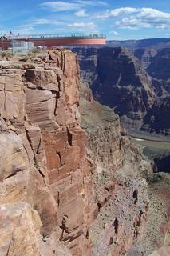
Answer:
POLYGON ((85 255, 90 186, 76 56, 57 50, 0 66, 1 255, 69 255, 64 244, 85 255))

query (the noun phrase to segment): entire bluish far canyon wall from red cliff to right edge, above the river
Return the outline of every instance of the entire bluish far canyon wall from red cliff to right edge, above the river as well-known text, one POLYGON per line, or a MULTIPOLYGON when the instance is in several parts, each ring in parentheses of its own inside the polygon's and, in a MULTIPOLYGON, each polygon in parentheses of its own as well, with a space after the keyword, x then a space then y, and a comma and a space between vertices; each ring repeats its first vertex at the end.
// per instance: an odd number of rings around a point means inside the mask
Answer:
POLYGON ((109 42, 74 48, 81 80, 128 130, 170 136, 170 40, 109 42), (166 47, 166 48, 165 48, 166 47))

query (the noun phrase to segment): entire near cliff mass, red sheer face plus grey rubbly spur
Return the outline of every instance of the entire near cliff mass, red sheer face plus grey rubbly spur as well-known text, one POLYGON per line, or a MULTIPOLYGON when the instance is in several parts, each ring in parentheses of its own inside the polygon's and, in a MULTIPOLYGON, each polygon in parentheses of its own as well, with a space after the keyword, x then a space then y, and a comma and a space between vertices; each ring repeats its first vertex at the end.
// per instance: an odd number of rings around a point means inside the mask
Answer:
POLYGON ((118 256, 142 234, 151 166, 83 86, 80 114, 69 50, 0 62, 1 256, 118 256))

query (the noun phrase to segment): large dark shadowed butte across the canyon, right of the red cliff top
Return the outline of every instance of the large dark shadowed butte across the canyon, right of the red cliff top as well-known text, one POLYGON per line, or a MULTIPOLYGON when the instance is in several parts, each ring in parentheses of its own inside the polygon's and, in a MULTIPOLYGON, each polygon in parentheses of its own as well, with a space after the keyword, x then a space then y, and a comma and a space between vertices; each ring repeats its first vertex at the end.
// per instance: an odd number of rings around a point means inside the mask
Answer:
MULTIPOLYGON (((87 52, 89 59, 89 53, 94 54, 96 51, 97 65, 91 64, 91 66, 93 73, 97 71, 97 78, 93 77, 88 81, 94 97, 102 104, 114 108, 126 128, 139 130, 156 96, 152 88, 152 79, 128 50, 108 47, 89 49, 84 51, 84 54, 87 52)), ((87 81, 86 61, 81 58, 79 51, 77 54, 83 70, 81 78, 87 81)))

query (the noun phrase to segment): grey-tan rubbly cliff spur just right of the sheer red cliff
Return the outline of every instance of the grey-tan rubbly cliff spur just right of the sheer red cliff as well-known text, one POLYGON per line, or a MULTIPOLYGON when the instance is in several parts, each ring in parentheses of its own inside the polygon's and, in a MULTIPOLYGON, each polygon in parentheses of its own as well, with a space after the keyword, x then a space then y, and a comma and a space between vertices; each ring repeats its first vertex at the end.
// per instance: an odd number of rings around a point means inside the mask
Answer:
POLYGON ((124 255, 143 234, 148 194, 140 177, 152 167, 132 146, 113 110, 89 101, 88 95, 87 85, 81 85, 81 126, 93 160, 93 222, 86 237, 93 244, 91 255, 124 255))

